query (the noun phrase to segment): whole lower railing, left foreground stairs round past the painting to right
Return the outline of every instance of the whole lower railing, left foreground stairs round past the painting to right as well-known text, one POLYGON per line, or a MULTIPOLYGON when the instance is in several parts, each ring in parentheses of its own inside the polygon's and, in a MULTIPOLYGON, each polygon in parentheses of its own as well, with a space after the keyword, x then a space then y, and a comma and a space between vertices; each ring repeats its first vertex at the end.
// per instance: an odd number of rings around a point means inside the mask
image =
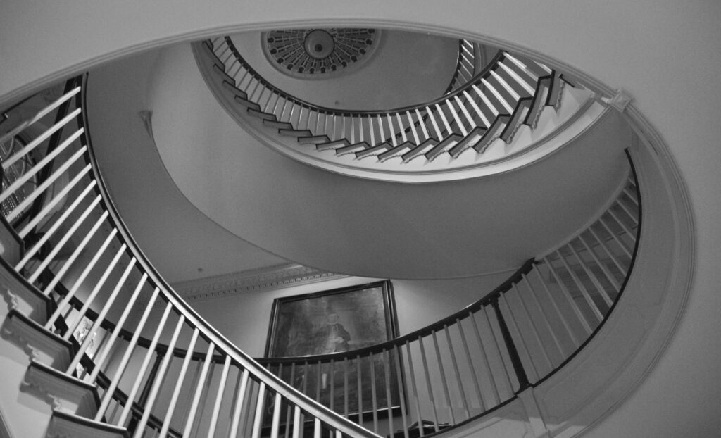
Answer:
POLYGON ((366 349, 253 360, 188 307, 133 242, 92 154, 82 85, 71 79, 61 100, 0 137, 50 126, 2 157, 8 170, 35 151, 32 166, 15 170, 16 181, 42 175, 37 187, 14 183, 0 198, 25 190, 4 216, 27 250, 6 267, 48 302, 37 320, 17 310, 8 319, 63 350, 52 363, 32 362, 29 376, 87 390, 91 408, 80 415, 94 426, 133 437, 440 432, 563 367, 601 328, 632 272, 641 200, 630 174, 592 224, 454 315, 366 349), (13 221, 21 211, 32 214, 13 221))

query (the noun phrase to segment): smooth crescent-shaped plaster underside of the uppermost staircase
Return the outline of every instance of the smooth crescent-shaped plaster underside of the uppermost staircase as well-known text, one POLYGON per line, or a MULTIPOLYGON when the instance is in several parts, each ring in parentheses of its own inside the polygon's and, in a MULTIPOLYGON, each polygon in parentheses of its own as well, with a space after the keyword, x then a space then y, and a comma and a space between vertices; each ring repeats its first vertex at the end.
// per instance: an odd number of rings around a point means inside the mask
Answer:
POLYGON ((160 156, 190 202, 260 248, 336 273, 424 279, 519 266, 582 227, 627 170, 630 132, 609 115, 576 144, 490 178, 403 184, 324 172, 237 126, 188 45, 159 54, 148 95, 160 156))

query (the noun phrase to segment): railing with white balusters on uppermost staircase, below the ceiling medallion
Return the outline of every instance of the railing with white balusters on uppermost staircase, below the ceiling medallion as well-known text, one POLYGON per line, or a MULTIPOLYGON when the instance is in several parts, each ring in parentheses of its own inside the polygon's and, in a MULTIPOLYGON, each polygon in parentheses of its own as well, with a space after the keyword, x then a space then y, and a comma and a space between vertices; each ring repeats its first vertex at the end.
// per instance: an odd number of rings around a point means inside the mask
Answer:
MULTIPOLYGON (((556 71, 499 52, 472 78, 459 74, 449 86, 451 92, 436 100, 392 110, 335 110, 267 82, 229 37, 199 43, 196 50, 208 51, 214 74, 224 92, 234 95, 240 113, 260 118, 279 135, 314 145, 319 152, 381 162, 400 157, 399 163, 408 163, 421 156, 433 161, 442 154, 456 159, 469 149, 482 154, 495 139, 510 142, 521 125, 534 126, 545 106, 559 105, 562 90, 556 71)), ((470 62, 475 58, 459 58, 460 71, 470 69, 470 62)))

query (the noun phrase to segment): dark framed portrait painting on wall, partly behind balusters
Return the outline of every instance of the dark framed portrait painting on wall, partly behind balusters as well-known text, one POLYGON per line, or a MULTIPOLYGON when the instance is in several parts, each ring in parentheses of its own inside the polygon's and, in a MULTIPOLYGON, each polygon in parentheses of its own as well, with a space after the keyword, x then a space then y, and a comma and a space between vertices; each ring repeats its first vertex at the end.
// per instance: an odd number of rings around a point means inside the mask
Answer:
POLYGON ((279 377, 339 413, 373 415, 374 406, 375 414, 387 415, 389 409, 396 410, 404 393, 395 356, 349 357, 345 362, 340 358, 344 351, 389 341, 397 333, 389 280, 283 297, 273 302, 265 356, 298 358, 292 371, 283 359, 286 366, 279 377), (318 355, 324 356, 306 359, 318 355))

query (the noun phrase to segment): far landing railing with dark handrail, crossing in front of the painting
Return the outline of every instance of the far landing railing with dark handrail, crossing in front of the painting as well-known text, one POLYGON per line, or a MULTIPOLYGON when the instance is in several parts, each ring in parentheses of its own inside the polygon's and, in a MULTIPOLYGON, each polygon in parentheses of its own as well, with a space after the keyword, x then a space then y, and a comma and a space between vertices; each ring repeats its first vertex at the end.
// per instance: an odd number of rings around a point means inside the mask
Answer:
MULTIPOLYGON (((637 188, 629 179, 593 224, 538 260, 528 260, 454 315, 366 349, 256 360, 309 398, 377 434, 440 432, 510 402, 580 351, 624 289, 639 224, 637 188)), ((58 297, 67 294, 56 291, 58 297)), ((84 303, 72 299, 71 305, 79 310, 84 303)), ((94 312, 85 316, 88 323, 98 320, 94 312)), ((94 333, 104 337, 116 327, 104 320, 94 333)), ((120 330, 118 336, 131 341, 133 333, 120 330)), ((138 338, 137 345, 148 349, 151 340, 138 338)), ((168 348, 156 345, 162 354, 168 348)), ((183 359, 188 351, 175 348, 172 354, 183 359)), ((202 352, 190 356, 200 367, 202 352)), ((213 356, 211 370, 221 372, 223 359, 213 356)), ((281 411, 282 418, 290 415, 281 411)))

